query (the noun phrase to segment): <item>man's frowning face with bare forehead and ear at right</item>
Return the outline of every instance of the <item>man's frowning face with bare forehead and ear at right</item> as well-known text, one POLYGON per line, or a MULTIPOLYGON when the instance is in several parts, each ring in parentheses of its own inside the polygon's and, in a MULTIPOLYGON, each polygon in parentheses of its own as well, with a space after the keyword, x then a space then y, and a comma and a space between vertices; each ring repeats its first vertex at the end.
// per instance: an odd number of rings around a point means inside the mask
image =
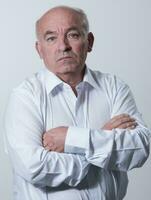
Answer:
POLYGON ((91 37, 84 33, 78 14, 58 9, 40 20, 36 48, 46 67, 56 75, 80 73, 93 44, 91 37))

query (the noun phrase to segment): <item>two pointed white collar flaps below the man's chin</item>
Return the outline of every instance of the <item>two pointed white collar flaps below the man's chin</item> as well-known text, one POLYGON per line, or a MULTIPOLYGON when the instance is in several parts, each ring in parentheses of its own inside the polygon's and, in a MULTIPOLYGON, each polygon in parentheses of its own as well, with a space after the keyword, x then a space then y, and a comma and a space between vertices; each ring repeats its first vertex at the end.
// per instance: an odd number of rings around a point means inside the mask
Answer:
MULTIPOLYGON (((49 71, 47 68, 45 68, 44 71, 45 71, 46 90, 47 94, 49 94, 50 92, 52 92, 54 88, 56 88, 59 85, 62 85, 63 81, 59 79, 53 72, 49 71)), ((93 77, 93 72, 88 67, 86 67, 85 69, 85 74, 82 82, 88 83, 89 85, 91 85, 96 89, 98 88, 98 84, 93 77)))

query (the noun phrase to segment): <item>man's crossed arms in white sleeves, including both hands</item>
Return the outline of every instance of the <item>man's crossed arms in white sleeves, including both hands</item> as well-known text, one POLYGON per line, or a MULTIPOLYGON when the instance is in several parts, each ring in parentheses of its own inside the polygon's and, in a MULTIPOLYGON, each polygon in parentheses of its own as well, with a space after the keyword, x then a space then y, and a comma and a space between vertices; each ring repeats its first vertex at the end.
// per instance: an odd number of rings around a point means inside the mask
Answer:
POLYGON ((90 165, 122 171, 140 167, 149 154, 150 132, 133 101, 125 88, 123 99, 118 99, 117 112, 113 113, 116 117, 100 130, 57 127, 43 135, 34 97, 26 88, 14 91, 6 112, 5 130, 15 173, 39 187, 56 187, 63 182, 76 186, 90 165), (127 102, 131 102, 129 107, 127 102), (129 113, 132 118, 118 113, 129 113), (63 151, 66 153, 58 153, 63 151))

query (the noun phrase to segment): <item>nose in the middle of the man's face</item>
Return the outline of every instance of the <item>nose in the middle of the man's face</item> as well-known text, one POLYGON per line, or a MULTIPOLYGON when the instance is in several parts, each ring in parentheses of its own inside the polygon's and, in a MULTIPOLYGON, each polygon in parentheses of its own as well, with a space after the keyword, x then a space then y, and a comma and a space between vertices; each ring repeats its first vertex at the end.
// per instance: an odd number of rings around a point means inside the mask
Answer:
POLYGON ((68 39, 66 37, 61 37, 58 43, 58 50, 61 52, 70 51, 72 49, 68 39))

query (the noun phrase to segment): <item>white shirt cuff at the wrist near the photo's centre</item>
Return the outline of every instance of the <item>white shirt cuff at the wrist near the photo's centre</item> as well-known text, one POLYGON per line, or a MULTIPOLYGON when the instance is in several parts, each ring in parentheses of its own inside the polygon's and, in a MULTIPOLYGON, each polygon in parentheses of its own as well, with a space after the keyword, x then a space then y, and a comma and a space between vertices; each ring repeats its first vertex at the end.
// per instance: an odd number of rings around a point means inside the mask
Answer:
POLYGON ((65 153, 85 154, 89 147, 90 130, 70 126, 65 141, 65 153))

